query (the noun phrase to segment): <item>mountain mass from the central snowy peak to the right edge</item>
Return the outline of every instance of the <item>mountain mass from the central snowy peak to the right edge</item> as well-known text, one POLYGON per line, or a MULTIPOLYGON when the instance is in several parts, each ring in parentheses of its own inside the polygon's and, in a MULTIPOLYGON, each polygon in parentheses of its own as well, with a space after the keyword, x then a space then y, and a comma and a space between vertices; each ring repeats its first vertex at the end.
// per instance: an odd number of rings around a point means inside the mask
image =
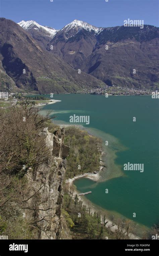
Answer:
POLYGON ((47 46, 43 40, 41 44, 50 54, 109 86, 157 88, 159 85, 157 27, 97 28, 74 20, 49 40, 47 46))

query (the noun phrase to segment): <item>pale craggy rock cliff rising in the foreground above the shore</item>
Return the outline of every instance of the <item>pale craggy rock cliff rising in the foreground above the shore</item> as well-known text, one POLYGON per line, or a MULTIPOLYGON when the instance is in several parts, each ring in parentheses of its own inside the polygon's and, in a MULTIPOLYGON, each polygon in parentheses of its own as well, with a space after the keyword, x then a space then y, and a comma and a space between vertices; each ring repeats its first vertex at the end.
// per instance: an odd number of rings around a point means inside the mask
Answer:
POLYGON ((65 129, 59 128, 54 134, 45 128, 39 133, 50 148, 51 157, 36 170, 30 168, 27 179, 29 189, 22 206, 24 217, 33 223, 33 239, 61 238, 61 207, 66 160, 69 147, 63 143, 65 129))

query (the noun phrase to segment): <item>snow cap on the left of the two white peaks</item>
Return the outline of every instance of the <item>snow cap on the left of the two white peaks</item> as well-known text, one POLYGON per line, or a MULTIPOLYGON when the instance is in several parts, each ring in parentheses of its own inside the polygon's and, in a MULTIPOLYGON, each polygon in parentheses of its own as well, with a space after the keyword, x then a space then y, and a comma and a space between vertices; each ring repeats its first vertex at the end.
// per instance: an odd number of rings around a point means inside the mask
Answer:
POLYGON ((50 37, 54 37, 54 35, 58 32, 58 30, 54 28, 41 26, 36 21, 21 21, 18 23, 18 25, 20 25, 20 27, 22 27, 25 30, 35 29, 39 31, 42 29, 50 37))

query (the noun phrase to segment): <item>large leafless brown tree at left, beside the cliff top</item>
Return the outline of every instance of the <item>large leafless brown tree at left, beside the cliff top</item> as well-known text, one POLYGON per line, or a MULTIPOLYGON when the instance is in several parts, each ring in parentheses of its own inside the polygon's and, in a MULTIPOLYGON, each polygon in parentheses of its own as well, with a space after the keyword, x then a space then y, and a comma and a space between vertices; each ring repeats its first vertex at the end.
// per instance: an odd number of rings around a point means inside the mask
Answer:
POLYGON ((29 101, 20 101, 6 113, 0 114, 0 173, 2 171, 26 173, 28 168, 35 168, 50 156, 48 145, 39 132, 52 118, 50 113, 40 115, 40 109, 30 105, 29 101))

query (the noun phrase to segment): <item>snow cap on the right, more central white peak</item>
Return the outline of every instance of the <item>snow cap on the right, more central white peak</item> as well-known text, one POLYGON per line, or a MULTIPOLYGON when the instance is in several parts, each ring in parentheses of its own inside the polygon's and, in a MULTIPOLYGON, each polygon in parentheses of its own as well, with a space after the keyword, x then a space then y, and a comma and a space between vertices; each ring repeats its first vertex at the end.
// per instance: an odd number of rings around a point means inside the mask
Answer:
POLYGON ((85 29, 88 31, 93 30, 95 32, 95 34, 98 34, 99 32, 101 32, 103 30, 103 28, 97 28, 95 26, 90 25, 87 22, 79 21, 79 20, 72 21, 71 23, 66 25, 62 30, 69 31, 71 28, 77 28, 78 31, 81 29, 85 29))

